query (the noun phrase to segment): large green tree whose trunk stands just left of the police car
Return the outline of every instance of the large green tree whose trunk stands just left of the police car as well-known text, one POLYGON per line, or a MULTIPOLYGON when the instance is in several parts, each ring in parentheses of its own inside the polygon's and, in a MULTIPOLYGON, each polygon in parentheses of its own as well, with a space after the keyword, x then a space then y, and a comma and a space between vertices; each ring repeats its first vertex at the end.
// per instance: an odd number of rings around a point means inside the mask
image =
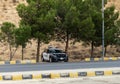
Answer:
POLYGON ((31 26, 31 36, 37 39, 37 57, 39 62, 40 44, 48 43, 54 33, 55 28, 55 0, 28 0, 25 6, 20 4, 17 7, 21 22, 31 26))

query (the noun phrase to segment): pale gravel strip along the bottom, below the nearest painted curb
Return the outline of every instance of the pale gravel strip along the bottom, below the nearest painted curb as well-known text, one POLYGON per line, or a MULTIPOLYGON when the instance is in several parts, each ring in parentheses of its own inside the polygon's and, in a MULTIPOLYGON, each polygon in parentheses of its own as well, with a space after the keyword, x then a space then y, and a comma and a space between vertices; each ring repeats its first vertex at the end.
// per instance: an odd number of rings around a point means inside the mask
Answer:
POLYGON ((0 84, 120 84, 120 76, 1 81, 0 84))

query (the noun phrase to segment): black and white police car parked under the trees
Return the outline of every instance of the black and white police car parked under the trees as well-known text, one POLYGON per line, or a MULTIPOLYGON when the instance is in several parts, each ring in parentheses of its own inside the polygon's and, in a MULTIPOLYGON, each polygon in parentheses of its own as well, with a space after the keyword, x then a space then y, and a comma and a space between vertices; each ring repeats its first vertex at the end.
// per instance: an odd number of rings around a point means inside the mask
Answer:
POLYGON ((41 55, 42 62, 48 61, 48 62, 58 62, 58 61, 64 61, 68 62, 68 56, 65 52, 63 52, 59 48, 55 47, 49 47, 48 49, 45 49, 44 52, 41 55))

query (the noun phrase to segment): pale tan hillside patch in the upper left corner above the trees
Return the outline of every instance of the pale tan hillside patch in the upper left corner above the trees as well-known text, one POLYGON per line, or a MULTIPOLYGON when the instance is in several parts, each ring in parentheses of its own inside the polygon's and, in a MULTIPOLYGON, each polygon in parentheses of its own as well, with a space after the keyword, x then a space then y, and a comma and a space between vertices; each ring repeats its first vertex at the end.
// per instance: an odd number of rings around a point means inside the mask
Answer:
POLYGON ((18 25, 20 18, 16 6, 19 3, 26 3, 26 0, 0 0, 0 25, 5 21, 18 25))

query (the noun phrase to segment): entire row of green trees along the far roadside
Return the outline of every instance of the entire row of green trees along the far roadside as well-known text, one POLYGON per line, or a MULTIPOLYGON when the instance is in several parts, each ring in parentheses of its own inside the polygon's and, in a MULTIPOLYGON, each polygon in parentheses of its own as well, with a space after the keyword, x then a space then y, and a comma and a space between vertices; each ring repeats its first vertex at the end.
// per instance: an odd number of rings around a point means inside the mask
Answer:
MULTIPOLYGON (((17 7, 21 17, 19 28, 9 22, 1 27, 1 40, 10 45, 10 60, 18 46, 23 49, 30 39, 37 40, 36 60, 39 62, 41 43, 51 40, 66 43, 68 52, 69 41, 83 41, 91 45, 91 57, 94 46, 102 44, 102 0, 27 0, 28 5, 17 7), (12 45, 16 49, 12 52, 12 45)), ((107 0, 105 0, 107 3, 107 0)), ((105 8, 105 49, 108 45, 120 44, 119 12, 115 7, 105 8)))

